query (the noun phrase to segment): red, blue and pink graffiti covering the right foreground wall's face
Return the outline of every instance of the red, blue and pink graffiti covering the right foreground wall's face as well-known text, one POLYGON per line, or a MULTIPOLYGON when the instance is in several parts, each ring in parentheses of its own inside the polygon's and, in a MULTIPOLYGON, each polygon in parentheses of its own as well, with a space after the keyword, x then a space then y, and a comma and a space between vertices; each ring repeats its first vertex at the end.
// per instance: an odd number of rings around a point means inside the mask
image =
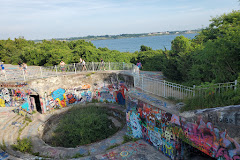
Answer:
POLYGON ((127 134, 142 137, 171 159, 181 159, 184 142, 219 160, 240 160, 240 145, 201 116, 188 122, 130 95, 126 105, 127 134))

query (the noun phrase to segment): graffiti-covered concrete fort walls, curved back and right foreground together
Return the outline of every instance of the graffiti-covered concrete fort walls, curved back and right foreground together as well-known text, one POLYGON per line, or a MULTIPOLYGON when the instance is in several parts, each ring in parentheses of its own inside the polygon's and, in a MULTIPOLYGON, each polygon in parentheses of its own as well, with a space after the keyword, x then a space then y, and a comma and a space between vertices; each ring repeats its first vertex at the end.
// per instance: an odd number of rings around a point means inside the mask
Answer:
MULTIPOLYGON (((191 146, 218 160, 240 160, 240 105, 180 113, 175 104, 134 88, 134 76, 118 71, 1 83, 0 109, 10 108, 15 112, 14 115, 5 111, 1 113, 12 118, 17 113, 37 121, 33 113, 38 112, 38 119, 45 122, 51 117, 49 113, 59 112, 55 109, 65 110, 72 104, 93 101, 125 106, 126 134, 145 140, 170 159, 184 159, 191 146)), ((0 133, 0 139, 4 145, 6 142, 3 140, 7 136, 4 127, 10 121, 7 122, 6 118, 1 123, 4 132, 0 133)), ((40 121, 34 124, 31 136, 33 141, 38 142, 36 144, 44 146, 37 139, 39 130, 43 130, 42 124, 40 121)), ((14 132, 17 134, 18 130, 14 132)), ((24 137, 24 130, 22 134, 20 138, 24 137)), ((8 143, 11 145, 14 140, 8 143)), ((72 156, 75 150, 70 152, 68 154, 72 156)), ((25 156, 11 151, 7 153, 25 156)), ((2 154, 0 159, 6 154, 2 154)), ((45 156, 58 158, 66 154, 64 149, 56 148, 49 148, 49 153, 44 153, 45 156)))

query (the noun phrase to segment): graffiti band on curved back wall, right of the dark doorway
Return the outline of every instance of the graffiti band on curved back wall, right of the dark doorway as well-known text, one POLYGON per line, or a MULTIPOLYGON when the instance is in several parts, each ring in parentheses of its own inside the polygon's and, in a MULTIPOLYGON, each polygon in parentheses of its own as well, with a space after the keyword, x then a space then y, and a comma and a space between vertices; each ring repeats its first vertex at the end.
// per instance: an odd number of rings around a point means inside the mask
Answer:
POLYGON ((91 102, 97 100, 99 102, 111 102, 125 105, 125 92, 128 91, 124 82, 118 85, 98 85, 91 86, 84 84, 75 88, 54 90, 50 94, 45 93, 43 98, 44 108, 51 111, 54 108, 62 108, 68 104, 91 102))

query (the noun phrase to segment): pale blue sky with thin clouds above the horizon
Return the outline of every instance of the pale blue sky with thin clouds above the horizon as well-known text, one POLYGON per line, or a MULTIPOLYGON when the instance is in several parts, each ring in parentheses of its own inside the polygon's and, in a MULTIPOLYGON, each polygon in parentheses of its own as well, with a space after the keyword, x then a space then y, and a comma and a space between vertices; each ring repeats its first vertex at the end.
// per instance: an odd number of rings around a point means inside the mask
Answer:
POLYGON ((238 0, 0 0, 0 39, 202 29, 238 0))

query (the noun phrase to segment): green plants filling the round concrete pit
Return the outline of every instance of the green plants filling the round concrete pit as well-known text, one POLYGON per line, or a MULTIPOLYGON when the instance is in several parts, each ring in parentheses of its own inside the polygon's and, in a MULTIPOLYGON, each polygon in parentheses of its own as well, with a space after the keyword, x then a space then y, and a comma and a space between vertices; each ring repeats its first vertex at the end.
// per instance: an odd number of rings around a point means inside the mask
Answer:
POLYGON ((61 118, 51 143, 54 146, 76 147, 105 139, 117 130, 108 119, 107 108, 76 106, 61 118))

